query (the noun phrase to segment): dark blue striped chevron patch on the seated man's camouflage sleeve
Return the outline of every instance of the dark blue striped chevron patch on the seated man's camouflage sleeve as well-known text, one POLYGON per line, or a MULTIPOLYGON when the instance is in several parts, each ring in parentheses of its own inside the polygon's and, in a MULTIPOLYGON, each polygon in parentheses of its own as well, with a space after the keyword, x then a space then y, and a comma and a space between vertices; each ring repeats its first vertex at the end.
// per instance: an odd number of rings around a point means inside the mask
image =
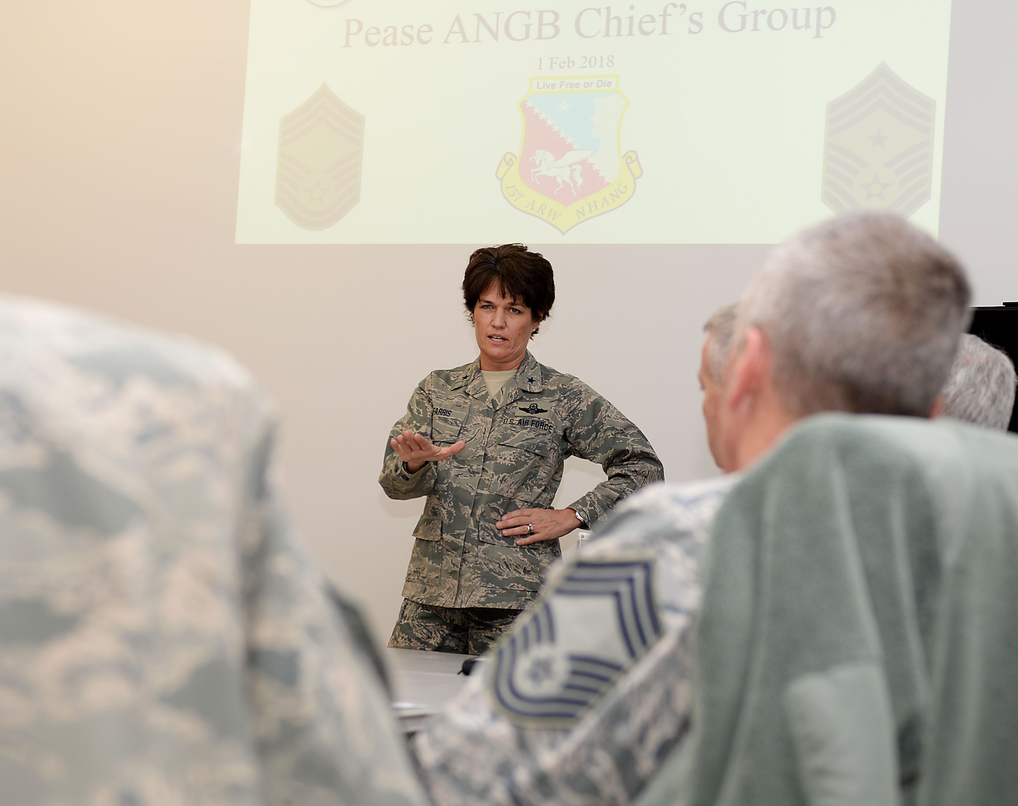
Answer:
POLYGON ((576 561, 497 644, 488 681, 514 722, 569 727, 658 640, 654 559, 576 561))

